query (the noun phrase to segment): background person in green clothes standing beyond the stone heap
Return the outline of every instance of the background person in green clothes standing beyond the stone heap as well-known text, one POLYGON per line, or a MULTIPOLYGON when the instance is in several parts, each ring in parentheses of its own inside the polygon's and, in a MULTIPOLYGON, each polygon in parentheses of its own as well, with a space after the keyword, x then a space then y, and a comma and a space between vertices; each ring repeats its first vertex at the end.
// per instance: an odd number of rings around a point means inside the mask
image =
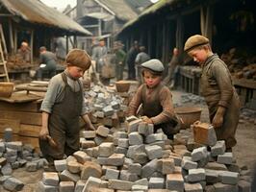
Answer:
POLYGON ((114 42, 114 52, 115 52, 115 78, 116 81, 123 79, 123 68, 125 63, 126 53, 122 50, 123 44, 121 41, 114 42))

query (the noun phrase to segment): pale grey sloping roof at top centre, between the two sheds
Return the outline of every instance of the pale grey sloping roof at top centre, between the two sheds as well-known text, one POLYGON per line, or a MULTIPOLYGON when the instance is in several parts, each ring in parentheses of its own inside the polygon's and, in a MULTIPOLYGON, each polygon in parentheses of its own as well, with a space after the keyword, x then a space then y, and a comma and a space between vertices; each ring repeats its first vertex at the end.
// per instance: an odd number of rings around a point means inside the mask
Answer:
POLYGON ((115 16, 123 21, 129 21, 138 16, 137 12, 124 1, 124 0, 98 0, 112 12, 115 12, 115 16))

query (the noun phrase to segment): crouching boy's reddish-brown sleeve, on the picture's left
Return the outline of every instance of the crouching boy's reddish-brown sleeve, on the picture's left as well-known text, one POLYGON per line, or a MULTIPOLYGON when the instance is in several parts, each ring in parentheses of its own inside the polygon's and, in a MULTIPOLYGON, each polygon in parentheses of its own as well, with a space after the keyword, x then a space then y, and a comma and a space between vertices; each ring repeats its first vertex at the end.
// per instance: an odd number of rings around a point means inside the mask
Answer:
POLYGON ((141 105, 141 102, 142 102, 142 95, 141 95, 142 94, 142 86, 143 85, 141 85, 138 88, 136 94, 134 95, 132 101, 129 104, 129 108, 128 108, 128 115, 129 116, 130 115, 136 115, 137 110, 141 105))

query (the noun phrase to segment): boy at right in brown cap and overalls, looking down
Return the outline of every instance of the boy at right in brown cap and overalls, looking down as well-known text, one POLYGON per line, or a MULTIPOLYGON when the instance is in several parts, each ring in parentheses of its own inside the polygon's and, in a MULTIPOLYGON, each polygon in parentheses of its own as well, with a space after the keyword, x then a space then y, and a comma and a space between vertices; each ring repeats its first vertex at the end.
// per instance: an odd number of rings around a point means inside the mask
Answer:
POLYGON ((226 64, 212 52, 209 39, 205 36, 191 36, 184 51, 202 67, 201 94, 209 108, 210 121, 215 127, 218 140, 225 140, 231 151, 237 143, 235 133, 239 122, 240 100, 232 84, 226 64))

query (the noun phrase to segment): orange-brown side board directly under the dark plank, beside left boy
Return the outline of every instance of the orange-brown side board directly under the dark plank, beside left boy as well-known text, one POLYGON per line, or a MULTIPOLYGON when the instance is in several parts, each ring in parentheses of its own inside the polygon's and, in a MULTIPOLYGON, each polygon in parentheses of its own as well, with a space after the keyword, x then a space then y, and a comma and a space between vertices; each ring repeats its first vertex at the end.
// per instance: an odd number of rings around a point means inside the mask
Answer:
POLYGON ((41 113, 0 110, 1 118, 17 119, 21 124, 41 126, 41 113))

